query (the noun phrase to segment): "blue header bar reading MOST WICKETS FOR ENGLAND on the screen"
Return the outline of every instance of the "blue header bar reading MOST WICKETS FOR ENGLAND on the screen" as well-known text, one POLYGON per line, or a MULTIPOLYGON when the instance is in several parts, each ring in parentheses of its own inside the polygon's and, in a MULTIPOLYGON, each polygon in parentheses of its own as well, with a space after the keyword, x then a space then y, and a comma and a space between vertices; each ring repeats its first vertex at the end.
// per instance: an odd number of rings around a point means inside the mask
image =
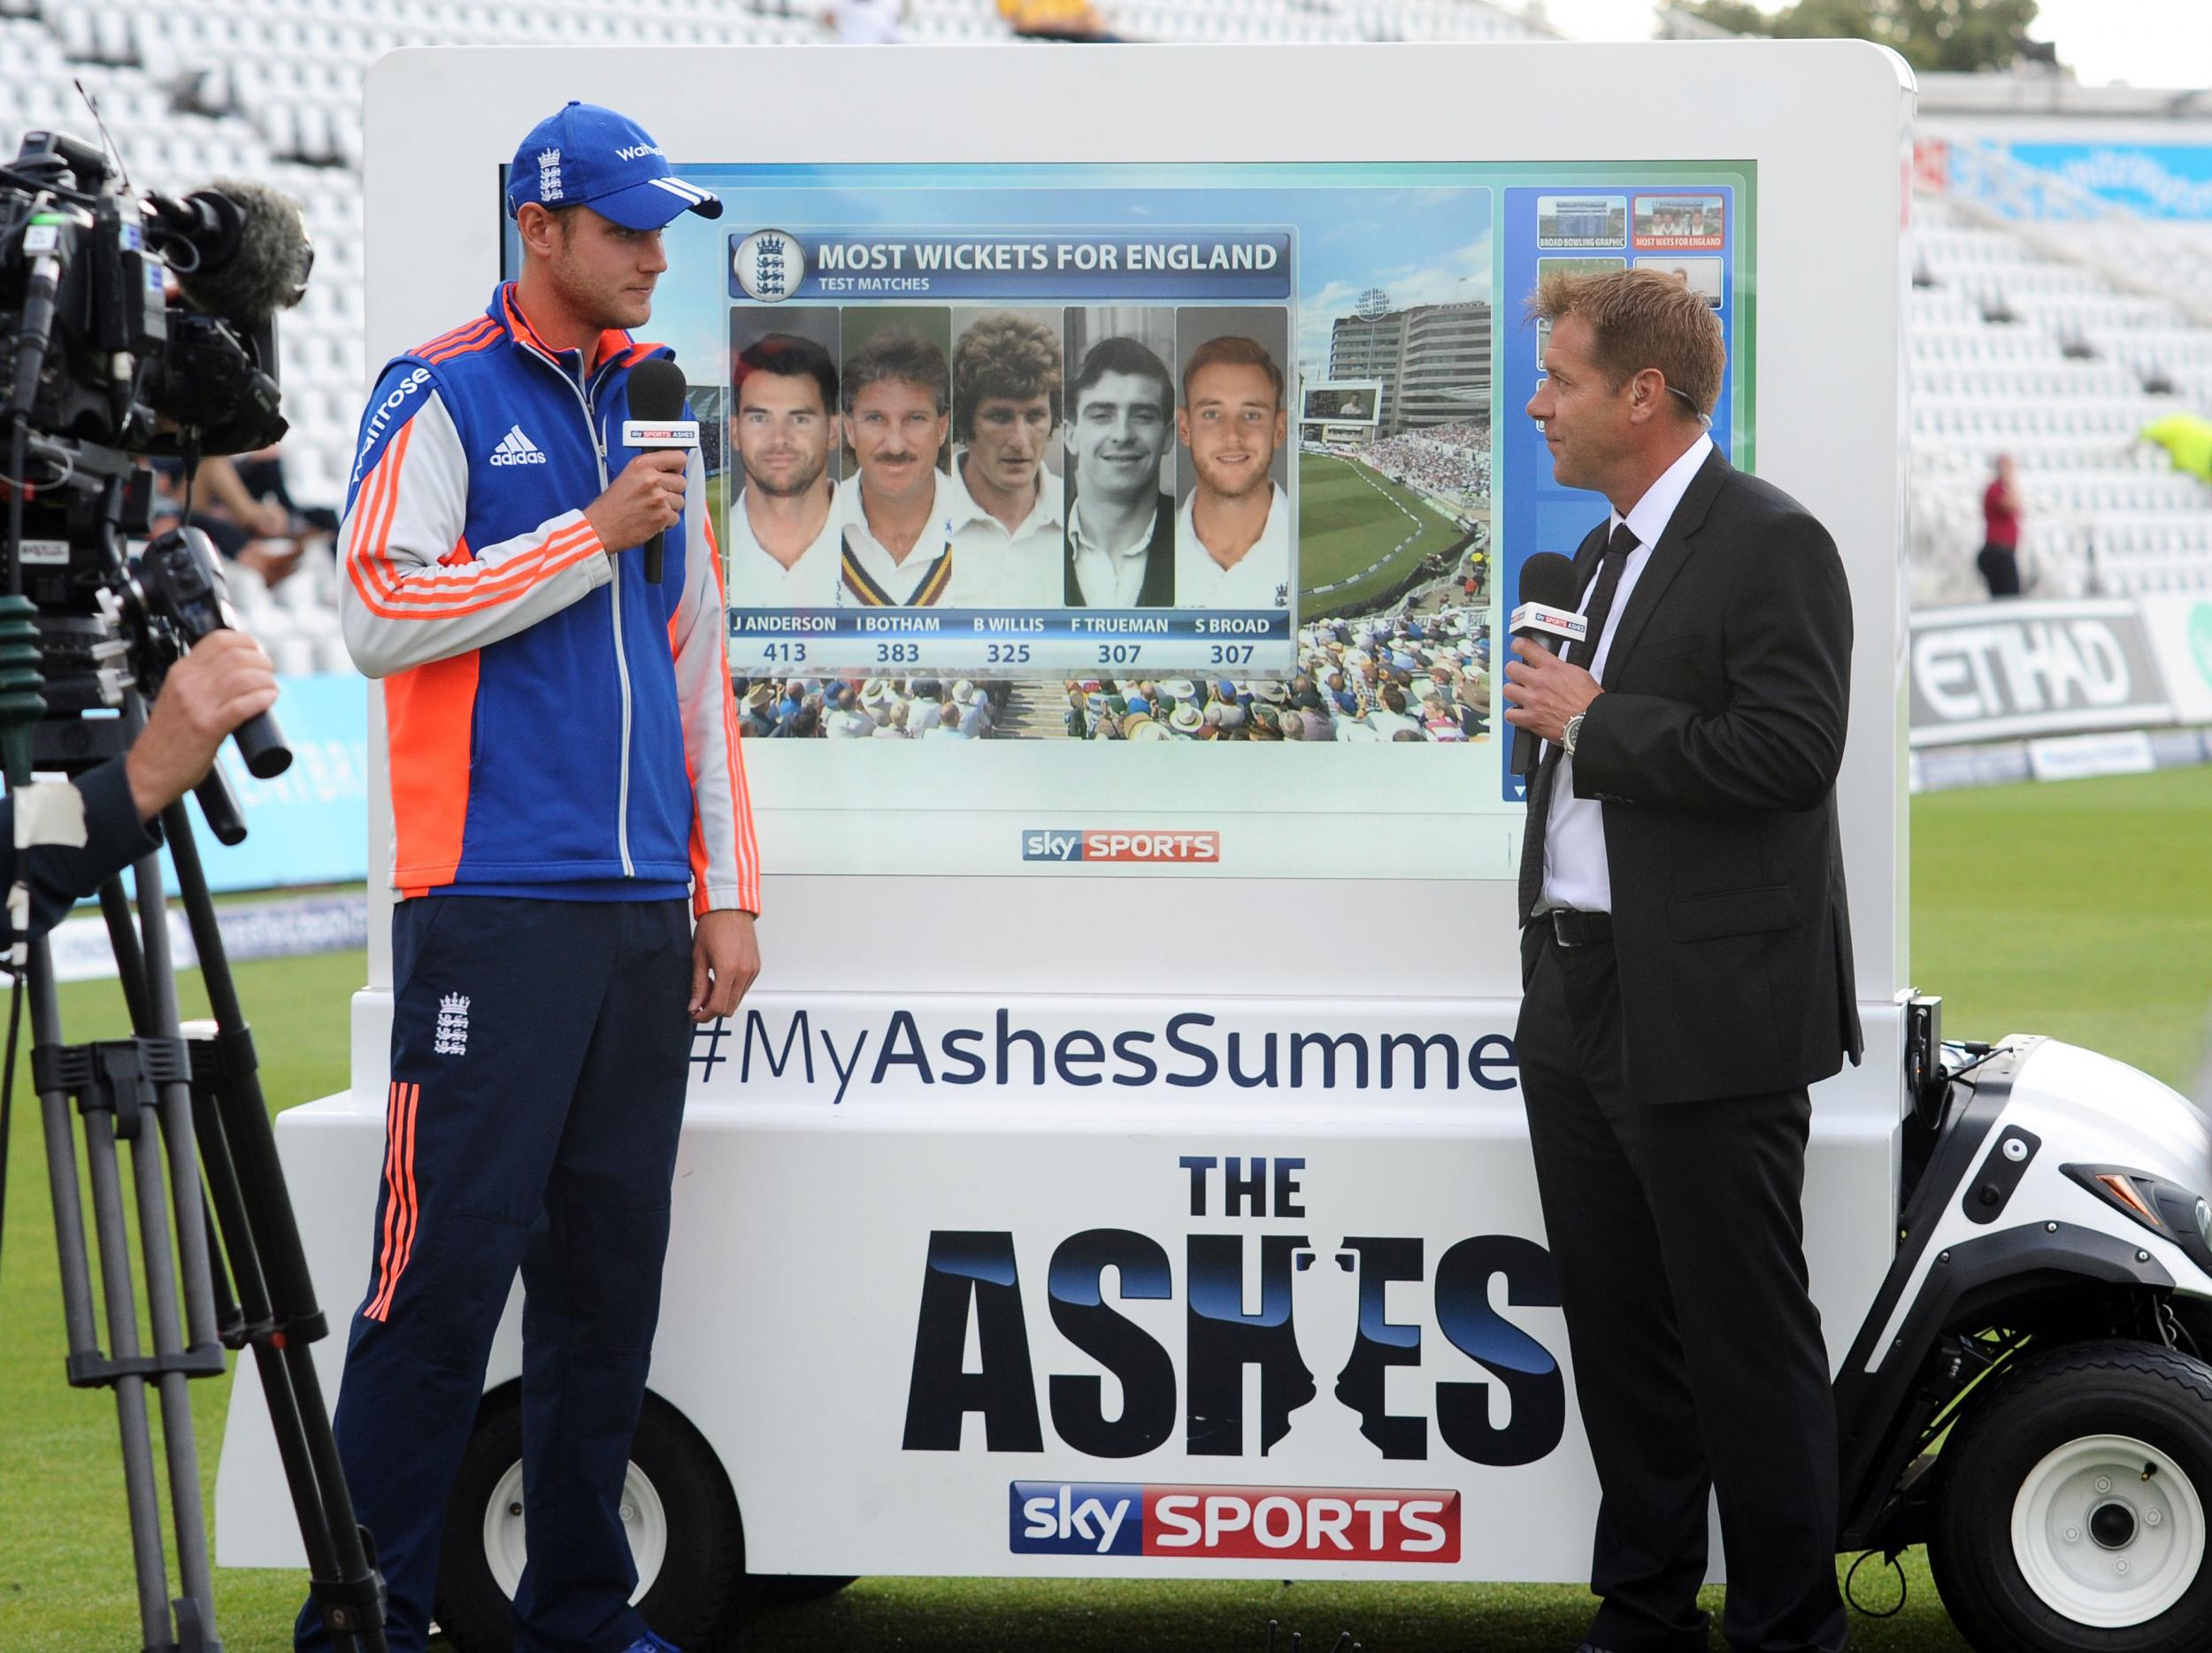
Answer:
POLYGON ((1274 299, 1292 292, 1287 230, 989 230, 909 235, 739 230, 730 297, 849 299, 1274 299))

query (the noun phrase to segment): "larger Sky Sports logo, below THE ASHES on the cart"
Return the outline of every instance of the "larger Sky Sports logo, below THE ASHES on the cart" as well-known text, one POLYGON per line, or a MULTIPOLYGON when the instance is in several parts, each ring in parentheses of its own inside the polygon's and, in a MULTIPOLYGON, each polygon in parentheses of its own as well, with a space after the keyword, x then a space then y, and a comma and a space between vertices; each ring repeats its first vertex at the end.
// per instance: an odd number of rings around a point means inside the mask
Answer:
POLYGON ((1460 1494, 1431 1487, 1168 1487, 1015 1480, 1015 1556, 1460 1560, 1460 1494))

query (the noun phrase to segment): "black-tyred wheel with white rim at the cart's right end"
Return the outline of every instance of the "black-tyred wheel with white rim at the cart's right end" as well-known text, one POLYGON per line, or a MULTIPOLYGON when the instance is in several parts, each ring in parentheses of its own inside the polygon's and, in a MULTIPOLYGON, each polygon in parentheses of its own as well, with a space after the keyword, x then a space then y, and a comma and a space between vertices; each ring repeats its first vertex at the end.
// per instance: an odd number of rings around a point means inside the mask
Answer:
POLYGON ((1938 1460, 1929 1567, 1980 1653, 2212 1646, 2212 1368, 2086 1343, 2000 1374, 1938 1460))

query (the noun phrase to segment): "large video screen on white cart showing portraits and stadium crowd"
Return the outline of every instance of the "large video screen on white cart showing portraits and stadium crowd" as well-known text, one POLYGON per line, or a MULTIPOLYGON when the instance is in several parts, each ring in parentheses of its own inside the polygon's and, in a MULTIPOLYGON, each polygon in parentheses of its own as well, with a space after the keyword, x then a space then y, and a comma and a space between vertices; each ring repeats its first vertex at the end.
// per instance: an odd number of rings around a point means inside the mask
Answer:
POLYGON ((726 212, 670 226, 644 336, 695 381, 752 737, 1486 777, 1504 562, 1604 511, 1531 447, 1537 261, 1666 268, 1736 345, 1725 164, 681 170, 726 212))

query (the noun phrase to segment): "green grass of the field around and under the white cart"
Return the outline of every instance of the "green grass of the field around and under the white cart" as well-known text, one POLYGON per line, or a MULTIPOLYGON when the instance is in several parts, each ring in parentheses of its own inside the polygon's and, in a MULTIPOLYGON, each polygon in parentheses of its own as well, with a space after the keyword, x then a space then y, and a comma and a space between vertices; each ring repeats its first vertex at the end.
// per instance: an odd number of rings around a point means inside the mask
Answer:
MULTIPOLYGON (((2188 1089, 2212 1007, 2212 770, 1947 792, 1913 803, 1913 978, 1944 994, 1953 1038, 2048 1031, 2188 1089)), ((279 1104, 345 1084, 347 991, 361 954, 239 969, 279 1104)), ((119 1033, 113 987, 62 989, 71 1038, 119 1033)), ((186 1013, 199 1000, 184 978, 186 1013)), ((24 1064, 27 1067, 27 1064, 24 1064)), ((18 1078, 18 1104, 29 1095, 18 1078)), ((327 1306, 343 1317, 345 1306, 327 1306)), ((1849 1328, 1829 1328, 1847 1337, 1849 1328)), ((53 1226, 33 1113, 9 1157, 0 1270, 0 1649, 137 1646, 115 1407, 62 1383, 53 1226)), ((204 1487, 228 1381, 195 1383, 204 1487)), ((1863 1573, 1863 1584, 1874 1573, 1863 1573)), ((1865 1653, 1962 1653, 1918 1553, 1900 1615, 1854 1618, 1865 1653)), ((1893 1600, 1893 1580, 1863 1595, 1893 1600), (1887 1591, 1887 1593, 1885 1593, 1887 1591)), ((301 1580, 217 1571, 223 1644, 290 1646, 301 1580)), ((1712 1607, 1719 1593, 1710 1593, 1712 1607)), ((1564 1584, 1270 1584, 1148 1580, 865 1578, 763 1613, 748 1653, 900 1646, 909 1653, 1259 1653, 1265 1622, 1321 1649, 1352 1629, 1371 1653, 1564 1653, 1588 1622, 1564 1584)), ((1714 1635, 1712 1646, 1719 1646, 1714 1635)))

